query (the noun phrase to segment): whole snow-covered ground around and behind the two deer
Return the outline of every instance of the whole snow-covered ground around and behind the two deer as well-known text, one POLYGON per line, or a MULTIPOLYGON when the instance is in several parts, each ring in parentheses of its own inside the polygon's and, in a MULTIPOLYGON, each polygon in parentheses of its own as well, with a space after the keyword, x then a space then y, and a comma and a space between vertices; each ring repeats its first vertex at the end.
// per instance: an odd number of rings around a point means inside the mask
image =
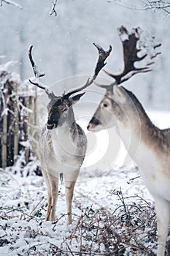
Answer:
MULTIPOLYGON (((170 127, 170 113, 149 116, 158 127, 170 127)), ((1 256, 155 255, 154 205, 139 170, 114 129, 92 134, 86 130, 88 120, 78 120, 87 133, 88 154, 74 189, 69 227, 64 184, 59 185, 58 219, 45 222, 47 188, 43 178, 31 172, 36 162, 23 169, 23 176, 18 166, 0 170, 1 256), (112 150, 109 140, 115 141, 112 150)))

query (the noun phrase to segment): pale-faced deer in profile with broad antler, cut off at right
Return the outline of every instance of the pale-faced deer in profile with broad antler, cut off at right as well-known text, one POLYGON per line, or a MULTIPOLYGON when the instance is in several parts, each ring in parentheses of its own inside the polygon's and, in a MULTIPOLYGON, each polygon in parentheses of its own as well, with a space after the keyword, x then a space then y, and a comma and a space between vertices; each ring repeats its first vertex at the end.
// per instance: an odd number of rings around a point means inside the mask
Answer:
MULTIPOLYGON (((146 67, 136 67, 146 56, 139 57, 141 50, 138 29, 131 34, 124 26, 118 29, 123 45, 124 68, 119 74, 104 70, 114 81, 108 85, 98 84, 106 90, 96 112, 90 119, 88 130, 98 132, 101 129, 116 127, 118 135, 130 157, 136 162, 142 174, 144 184, 155 202, 158 230, 158 256, 163 256, 166 250, 166 239, 169 233, 170 221, 170 129, 156 127, 145 112, 139 99, 133 92, 125 89, 121 83, 132 76, 149 72, 146 67)), ((161 46, 155 45, 154 49, 161 46)), ((154 53, 157 56, 160 53, 154 53)), ((150 58, 154 58, 154 55, 150 58)))

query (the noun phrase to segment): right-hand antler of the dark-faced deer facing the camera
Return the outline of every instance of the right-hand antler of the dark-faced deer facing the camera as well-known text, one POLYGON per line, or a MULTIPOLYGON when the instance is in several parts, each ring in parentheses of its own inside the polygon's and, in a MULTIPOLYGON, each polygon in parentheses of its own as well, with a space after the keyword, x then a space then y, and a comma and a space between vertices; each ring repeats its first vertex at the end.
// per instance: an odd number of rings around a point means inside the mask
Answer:
POLYGON ((88 80, 86 81, 85 85, 80 87, 79 89, 74 89, 73 91, 68 92, 65 97, 70 97, 72 94, 75 94, 79 91, 84 90, 85 88, 87 88, 88 86, 90 86, 94 80, 96 79, 96 77, 98 76, 98 73, 101 71, 101 69, 107 64, 104 63, 104 61, 107 59, 107 57, 109 56, 109 54, 112 51, 112 46, 109 45, 109 50, 104 50, 103 48, 101 48, 100 45, 96 44, 95 42, 93 43, 93 45, 97 48, 98 50, 98 61, 96 63, 96 67, 94 69, 94 73, 93 76, 91 78, 88 78, 88 80))

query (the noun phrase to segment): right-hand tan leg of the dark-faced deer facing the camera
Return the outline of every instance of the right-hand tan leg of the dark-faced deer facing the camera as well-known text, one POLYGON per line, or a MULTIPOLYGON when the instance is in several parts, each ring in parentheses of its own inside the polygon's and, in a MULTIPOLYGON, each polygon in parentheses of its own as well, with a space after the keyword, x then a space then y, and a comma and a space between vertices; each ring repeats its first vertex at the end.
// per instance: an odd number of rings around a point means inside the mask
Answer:
POLYGON ((67 225, 72 224, 72 198, 74 192, 74 186, 77 181, 80 170, 76 170, 72 175, 65 177, 66 184, 66 210, 67 210, 67 225))

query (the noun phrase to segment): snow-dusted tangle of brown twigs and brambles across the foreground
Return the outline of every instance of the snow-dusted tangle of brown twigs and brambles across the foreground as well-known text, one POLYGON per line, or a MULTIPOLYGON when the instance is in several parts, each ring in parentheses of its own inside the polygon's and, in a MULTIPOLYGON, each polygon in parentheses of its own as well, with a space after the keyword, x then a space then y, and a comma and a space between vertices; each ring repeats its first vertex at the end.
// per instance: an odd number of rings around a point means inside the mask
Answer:
POLYGON ((66 214, 50 223, 48 229, 43 229, 44 198, 31 214, 25 214, 23 207, 1 206, 0 227, 4 235, 0 237, 0 246, 8 246, 11 251, 17 249, 19 256, 155 255, 157 232, 153 206, 137 195, 124 197, 121 189, 112 190, 110 196, 117 198, 113 212, 93 205, 83 208, 77 203, 80 214, 74 215, 73 225, 66 228, 60 244, 55 241, 58 241, 58 227, 63 230, 66 214), (20 225, 14 225, 16 219, 20 225), (16 244, 22 233, 26 246, 18 249, 16 244))

